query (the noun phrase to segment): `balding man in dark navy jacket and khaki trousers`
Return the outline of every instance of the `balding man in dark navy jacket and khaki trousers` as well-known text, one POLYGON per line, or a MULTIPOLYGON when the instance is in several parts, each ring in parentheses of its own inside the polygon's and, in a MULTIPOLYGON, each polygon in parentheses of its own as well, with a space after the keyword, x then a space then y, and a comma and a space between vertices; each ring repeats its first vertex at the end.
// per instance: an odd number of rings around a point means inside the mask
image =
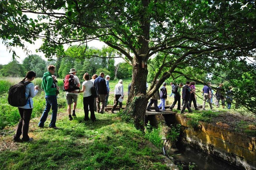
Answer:
POLYGON ((96 98, 97 102, 97 112, 102 113, 104 112, 105 102, 106 102, 106 95, 107 95, 107 85, 106 80, 104 79, 104 73, 100 73, 99 76, 94 80, 94 87, 98 91, 98 97, 96 98), (100 107, 101 103, 101 107, 100 107))

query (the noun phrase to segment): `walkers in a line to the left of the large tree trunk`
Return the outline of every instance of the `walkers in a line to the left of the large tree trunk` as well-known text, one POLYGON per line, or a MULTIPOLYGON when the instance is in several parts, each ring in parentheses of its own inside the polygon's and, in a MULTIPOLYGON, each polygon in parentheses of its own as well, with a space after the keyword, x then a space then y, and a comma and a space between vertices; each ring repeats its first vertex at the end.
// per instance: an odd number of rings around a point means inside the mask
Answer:
MULTIPOLYGON (((55 66, 49 65, 47 68, 47 72, 44 73, 42 78, 42 90, 45 91, 45 100, 46 106, 38 123, 38 127, 43 128, 44 123, 48 117, 48 113, 52 108, 52 117, 49 127, 58 129, 56 127, 56 118, 57 118, 57 96, 59 94, 59 87, 57 85, 56 76, 53 74, 55 73, 55 66)), ((106 78, 104 73, 100 73, 98 75, 93 75, 92 79, 90 79, 89 73, 85 73, 83 75, 83 79, 85 80, 82 83, 82 88, 80 90, 80 81, 79 78, 76 76, 77 71, 72 68, 70 69, 69 74, 74 77, 75 86, 79 90, 74 90, 71 92, 66 92, 66 101, 68 105, 68 116, 69 120, 73 120, 73 117, 76 116, 75 109, 77 105, 77 96, 78 93, 83 93, 83 108, 84 108, 84 120, 89 120, 89 110, 91 112, 91 120, 93 122, 96 121, 95 111, 98 113, 103 113, 107 111, 107 103, 108 103, 108 96, 110 92, 109 87, 109 80, 110 76, 107 75, 106 78), (97 97, 92 96, 92 88, 95 88, 97 91, 97 97), (73 111, 71 115, 71 108, 73 104, 73 111), (101 106, 100 106, 101 105, 101 106), (73 116, 73 117, 72 117, 73 116)), ((34 71, 29 71, 26 74, 26 77, 22 80, 25 84, 25 97, 27 99, 27 104, 23 107, 18 107, 20 113, 20 121, 16 128, 16 133, 13 135, 13 140, 16 142, 30 142, 33 138, 28 136, 28 129, 29 129, 29 122, 32 114, 33 109, 33 97, 38 93, 38 86, 35 86, 32 81, 36 77, 36 73, 34 71), (22 134, 22 139, 20 136, 22 134)), ((123 99, 123 81, 119 80, 117 85, 115 86, 115 98, 116 102, 111 110, 114 113, 115 108, 117 107, 118 103, 120 108, 122 108, 122 102, 119 101, 119 98, 123 99)))

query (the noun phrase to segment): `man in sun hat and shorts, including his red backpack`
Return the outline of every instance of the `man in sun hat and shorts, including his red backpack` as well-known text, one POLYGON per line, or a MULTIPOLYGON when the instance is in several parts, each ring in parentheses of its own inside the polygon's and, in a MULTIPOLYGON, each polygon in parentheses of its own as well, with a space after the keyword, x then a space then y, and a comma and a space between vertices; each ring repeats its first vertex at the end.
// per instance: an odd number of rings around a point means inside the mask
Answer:
POLYGON ((80 81, 79 81, 79 78, 75 75, 77 71, 75 71, 74 68, 70 69, 69 73, 70 74, 66 75, 63 81, 64 81, 64 90, 66 91, 69 120, 73 120, 72 116, 76 116, 75 108, 76 108, 77 96, 78 96, 78 93, 76 93, 76 91, 79 91, 80 81), (72 103, 73 103, 73 113, 71 116, 72 103))

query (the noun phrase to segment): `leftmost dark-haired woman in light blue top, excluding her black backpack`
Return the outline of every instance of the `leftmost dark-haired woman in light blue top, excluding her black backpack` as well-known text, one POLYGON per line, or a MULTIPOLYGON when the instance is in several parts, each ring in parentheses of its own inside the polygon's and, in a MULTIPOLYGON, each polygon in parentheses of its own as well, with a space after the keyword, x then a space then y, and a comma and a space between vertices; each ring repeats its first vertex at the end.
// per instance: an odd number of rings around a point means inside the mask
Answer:
POLYGON ((26 77, 22 80, 25 86, 25 96, 27 99, 27 103, 25 106, 18 107, 20 113, 20 121, 16 128, 16 133, 13 135, 13 140, 15 142, 31 142, 33 138, 30 138, 28 135, 29 131, 29 121, 31 118, 32 110, 33 110, 33 97, 38 93, 38 86, 34 86, 33 79, 35 78, 36 73, 33 71, 29 71, 26 74, 26 77), (20 136, 22 134, 22 138, 20 136))

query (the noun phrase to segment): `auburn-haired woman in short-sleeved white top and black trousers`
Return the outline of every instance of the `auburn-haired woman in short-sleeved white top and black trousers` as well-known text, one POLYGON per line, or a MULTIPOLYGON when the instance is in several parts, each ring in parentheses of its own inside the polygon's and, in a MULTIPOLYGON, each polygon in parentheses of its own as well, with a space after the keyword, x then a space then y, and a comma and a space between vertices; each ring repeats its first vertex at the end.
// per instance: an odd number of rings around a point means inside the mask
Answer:
POLYGON ((94 84, 92 81, 90 81, 90 75, 88 73, 85 73, 83 78, 85 81, 82 83, 82 90, 80 90, 77 93, 84 93, 83 94, 84 120, 85 121, 89 120, 89 109, 88 109, 88 106, 89 106, 90 112, 91 112, 91 120, 95 122, 96 117, 95 117, 94 106, 93 106, 94 99, 93 99, 92 90, 91 90, 94 84))

